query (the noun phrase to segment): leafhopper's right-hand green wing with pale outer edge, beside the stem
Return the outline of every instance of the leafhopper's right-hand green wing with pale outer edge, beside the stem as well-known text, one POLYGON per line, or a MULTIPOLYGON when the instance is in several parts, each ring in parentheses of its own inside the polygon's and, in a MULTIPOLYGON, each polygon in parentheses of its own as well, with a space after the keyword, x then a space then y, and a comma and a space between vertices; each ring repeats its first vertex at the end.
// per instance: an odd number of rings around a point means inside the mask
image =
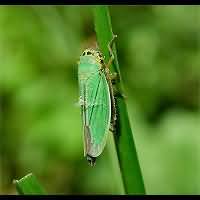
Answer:
MULTIPOLYGON (((96 75, 95 87, 89 92, 89 130, 91 142, 88 155, 97 157, 103 151, 111 118, 111 101, 109 87, 104 73, 96 75), (90 96, 91 95, 91 96, 90 96)), ((92 85, 92 84, 91 84, 92 85)))

